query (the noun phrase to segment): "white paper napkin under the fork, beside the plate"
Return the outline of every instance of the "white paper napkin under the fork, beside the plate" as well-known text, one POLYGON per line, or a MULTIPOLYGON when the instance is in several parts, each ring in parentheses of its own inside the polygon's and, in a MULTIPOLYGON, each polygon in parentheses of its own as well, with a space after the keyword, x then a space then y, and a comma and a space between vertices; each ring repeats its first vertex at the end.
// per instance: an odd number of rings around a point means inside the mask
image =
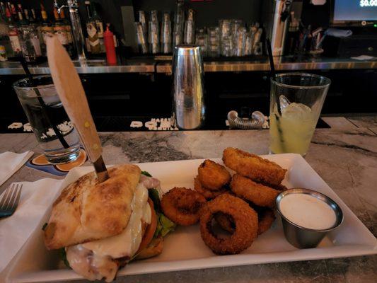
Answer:
POLYGON ((36 182, 22 182, 21 198, 16 212, 6 219, 0 219, 0 277, 31 233, 39 229, 37 225, 59 194, 62 181, 48 178, 36 182))

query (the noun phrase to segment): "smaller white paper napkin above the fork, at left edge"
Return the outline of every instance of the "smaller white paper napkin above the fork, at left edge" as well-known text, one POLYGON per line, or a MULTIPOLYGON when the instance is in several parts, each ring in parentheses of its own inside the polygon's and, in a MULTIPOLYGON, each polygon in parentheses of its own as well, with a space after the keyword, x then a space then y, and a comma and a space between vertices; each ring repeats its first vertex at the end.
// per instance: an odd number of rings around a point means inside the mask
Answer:
POLYGON ((0 154, 0 185, 11 178, 11 175, 16 173, 33 154, 33 151, 26 151, 23 154, 6 151, 0 154))

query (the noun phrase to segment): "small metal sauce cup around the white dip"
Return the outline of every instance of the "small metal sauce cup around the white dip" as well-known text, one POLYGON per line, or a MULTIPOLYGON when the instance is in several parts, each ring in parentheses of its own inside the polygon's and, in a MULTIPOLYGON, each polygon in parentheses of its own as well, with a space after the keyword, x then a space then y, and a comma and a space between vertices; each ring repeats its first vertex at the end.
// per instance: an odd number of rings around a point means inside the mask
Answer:
POLYGON ((331 200, 330 197, 327 197, 320 192, 315 192, 314 190, 301 188, 286 190, 284 192, 281 192, 277 196, 276 204, 277 212, 279 212, 280 216, 282 217, 284 236, 286 240, 296 248, 315 248, 316 246, 318 246, 318 243, 320 243, 320 241, 322 241, 322 239, 326 236, 326 233, 328 231, 336 229, 343 222, 343 212, 342 209, 340 209, 339 205, 331 200), (280 202, 282 201, 283 197, 290 194, 312 195, 313 197, 317 197, 318 200, 326 202, 335 212, 336 221, 334 226, 332 226, 330 229, 314 230, 298 226, 297 224, 289 221, 289 219, 286 219, 286 217, 280 211, 280 202))

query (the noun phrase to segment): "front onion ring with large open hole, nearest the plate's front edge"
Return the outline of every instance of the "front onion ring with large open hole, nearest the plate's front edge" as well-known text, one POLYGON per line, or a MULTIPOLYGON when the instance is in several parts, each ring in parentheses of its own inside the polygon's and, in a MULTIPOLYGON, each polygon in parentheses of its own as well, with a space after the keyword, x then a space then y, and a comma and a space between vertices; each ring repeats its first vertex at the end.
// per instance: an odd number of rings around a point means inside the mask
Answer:
POLYGON ((204 243, 218 255, 236 254, 250 247, 257 237, 257 230, 257 213, 247 202, 233 195, 219 195, 201 210, 200 234, 204 243), (236 225, 229 238, 218 238, 212 231, 211 222, 218 212, 231 216, 236 225))

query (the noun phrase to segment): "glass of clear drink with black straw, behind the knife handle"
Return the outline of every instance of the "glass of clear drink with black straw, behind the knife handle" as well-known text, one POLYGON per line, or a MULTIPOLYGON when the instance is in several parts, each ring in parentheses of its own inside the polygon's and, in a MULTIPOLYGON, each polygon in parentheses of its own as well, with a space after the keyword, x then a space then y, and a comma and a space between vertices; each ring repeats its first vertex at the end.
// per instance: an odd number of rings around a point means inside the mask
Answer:
POLYGON ((37 76, 34 80, 37 82, 35 87, 30 87, 28 79, 21 79, 13 84, 13 88, 40 148, 50 163, 75 161, 80 154, 79 135, 66 115, 51 76, 37 76), (42 106, 41 100, 45 106, 42 106), (68 146, 62 145, 54 132, 54 127, 68 146))

